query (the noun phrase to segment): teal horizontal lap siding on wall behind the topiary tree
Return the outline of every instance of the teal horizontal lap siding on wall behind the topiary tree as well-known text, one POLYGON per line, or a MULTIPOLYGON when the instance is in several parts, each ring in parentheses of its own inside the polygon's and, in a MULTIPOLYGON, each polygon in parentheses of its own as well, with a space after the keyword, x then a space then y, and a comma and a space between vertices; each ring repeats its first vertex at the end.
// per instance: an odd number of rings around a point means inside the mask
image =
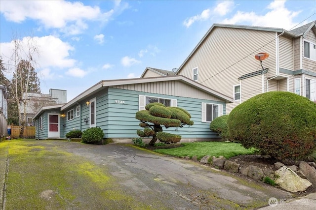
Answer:
POLYGON ((136 131, 142 129, 139 120, 135 119, 138 112, 139 95, 150 95, 177 99, 177 106, 186 109, 195 121, 193 126, 186 125, 183 128, 170 127, 163 129, 166 132, 182 135, 182 138, 218 138, 216 133, 211 132, 209 123, 201 122, 201 103, 216 103, 223 105, 223 113, 226 112, 225 102, 214 100, 202 100, 195 98, 176 97, 132 90, 109 89, 109 120, 111 123, 106 129, 107 138, 135 138, 138 137, 136 131), (124 104, 117 104, 115 100, 122 100, 124 104))

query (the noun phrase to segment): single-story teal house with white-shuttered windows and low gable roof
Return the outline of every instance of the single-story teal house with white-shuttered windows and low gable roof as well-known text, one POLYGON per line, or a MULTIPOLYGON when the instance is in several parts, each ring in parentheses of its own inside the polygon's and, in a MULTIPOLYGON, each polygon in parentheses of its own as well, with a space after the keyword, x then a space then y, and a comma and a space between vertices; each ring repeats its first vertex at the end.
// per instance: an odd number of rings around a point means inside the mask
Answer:
POLYGON ((66 104, 42 107, 33 118, 36 139, 64 139, 69 131, 100 127, 104 138, 130 141, 142 129, 136 112, 150 102, 186 109, 194 125, 164 131, 182 135, 181 141, 202 141, 218 138, 210 121, 225 115, 233 99, 182 75, 103 80, 66 104))

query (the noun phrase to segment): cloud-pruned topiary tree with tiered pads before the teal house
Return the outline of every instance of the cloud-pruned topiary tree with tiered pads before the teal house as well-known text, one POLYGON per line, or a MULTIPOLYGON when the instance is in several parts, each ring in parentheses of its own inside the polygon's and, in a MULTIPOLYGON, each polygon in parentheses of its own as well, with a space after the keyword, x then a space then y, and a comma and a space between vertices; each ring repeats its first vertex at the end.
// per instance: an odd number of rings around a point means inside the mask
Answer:
POLYGON ((181 136, 162 132, 162 126, 183 127, 184 125, 193 125, 190 120, 191 115, 184 109, 179 107, 166 107, 161 103, 150 103, 136 113, 136 119, 140 120, 139 126, 143 130, 137 130, 140 137, 153 137, 149 145, 154 146, 159 141, 166 144, 180 142, 181 136))

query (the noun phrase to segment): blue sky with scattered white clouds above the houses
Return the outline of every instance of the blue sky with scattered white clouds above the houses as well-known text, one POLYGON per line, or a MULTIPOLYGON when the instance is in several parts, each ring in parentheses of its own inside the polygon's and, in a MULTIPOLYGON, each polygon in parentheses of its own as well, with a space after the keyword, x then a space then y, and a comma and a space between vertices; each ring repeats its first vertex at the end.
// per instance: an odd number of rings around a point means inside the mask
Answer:
POLYGON ((316 0, 1 0, 0 56, 32 36, 42 93, 71 100, 101 80, 179 67, 214 23, 291 30, 316 20, 316 0), (12 35, 14 34, 14 35, 12 35))

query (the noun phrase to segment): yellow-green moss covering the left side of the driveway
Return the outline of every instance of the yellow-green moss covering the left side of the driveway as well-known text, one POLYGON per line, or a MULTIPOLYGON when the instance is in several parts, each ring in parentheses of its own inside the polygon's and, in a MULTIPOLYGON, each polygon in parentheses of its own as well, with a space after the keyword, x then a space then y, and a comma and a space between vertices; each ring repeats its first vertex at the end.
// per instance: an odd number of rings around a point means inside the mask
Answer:
POLYGON ((152 209, 124 194, 106 167, 57 149, 53 141, 40 143, 0 143, 1 166, 9 157, 6 210, 152 209))

